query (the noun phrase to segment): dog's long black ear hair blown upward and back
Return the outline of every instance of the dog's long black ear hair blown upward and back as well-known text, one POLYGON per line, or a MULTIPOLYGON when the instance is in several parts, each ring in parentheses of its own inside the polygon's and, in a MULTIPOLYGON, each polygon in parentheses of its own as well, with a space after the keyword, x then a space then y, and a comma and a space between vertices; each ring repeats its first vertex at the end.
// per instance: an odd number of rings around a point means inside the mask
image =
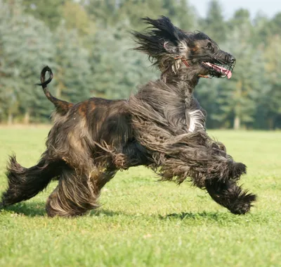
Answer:
POLYGON ((150 56, 150 59, 156 59, 155 64, 159 63, 164 54, 178 54, 178 45, 183 40, 188 40, 188 36, 175 27, 169 18, 162 16, 157 20, 151 18, 142 18, 142 20, 150 27, 144 34, 132 32, 139 44, 135 50, 143 51, 150 56))

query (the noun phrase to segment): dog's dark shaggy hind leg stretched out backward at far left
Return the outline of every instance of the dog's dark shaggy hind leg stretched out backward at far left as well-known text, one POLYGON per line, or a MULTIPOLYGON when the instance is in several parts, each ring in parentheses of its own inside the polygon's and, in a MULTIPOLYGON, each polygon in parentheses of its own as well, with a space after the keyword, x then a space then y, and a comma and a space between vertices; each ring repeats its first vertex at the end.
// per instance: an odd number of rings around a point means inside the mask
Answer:
POLYGON ((51 180, 60 175, 63 161, 48 161, 41 158, 36 166, 24 168, 10 157, 7 166, 8 189, 2 194, 0 208, 31 199, 44 190, 51 180))

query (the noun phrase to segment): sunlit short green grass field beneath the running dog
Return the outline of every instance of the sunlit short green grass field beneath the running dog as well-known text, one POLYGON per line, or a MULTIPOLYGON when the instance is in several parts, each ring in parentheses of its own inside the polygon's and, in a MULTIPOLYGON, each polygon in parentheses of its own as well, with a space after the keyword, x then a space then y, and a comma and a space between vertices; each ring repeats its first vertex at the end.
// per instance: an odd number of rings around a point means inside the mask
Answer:
MULTIPOLYGON (((48 128, 0 128, 0 191, 8 154, 32 166, 48 128)), ((81 218, 47 218, 46 197, 0 211, 0 266, 281 266, 281 132, 213 131, 248 166, 245 188, 258 194, 235 216, 204 190, 156 182, 145 168, 120 172, 102 206, 81 218)))

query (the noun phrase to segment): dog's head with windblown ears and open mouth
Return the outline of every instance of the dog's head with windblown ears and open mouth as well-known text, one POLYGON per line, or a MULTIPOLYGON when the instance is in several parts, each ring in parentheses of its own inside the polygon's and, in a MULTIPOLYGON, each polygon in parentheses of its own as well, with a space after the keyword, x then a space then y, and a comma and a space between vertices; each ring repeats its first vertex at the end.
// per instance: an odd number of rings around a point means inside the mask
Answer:
POLYGON ((133 32, 139 44, 136 50, 149 55, 162 73, 174 73, 189 68, 199 77, 228 77, 232 75, 235 58, 219 49, 216 42, 203 32, 185 32, 164 16, 157 20, 143 18, 149 24, 145 33, 133 32))

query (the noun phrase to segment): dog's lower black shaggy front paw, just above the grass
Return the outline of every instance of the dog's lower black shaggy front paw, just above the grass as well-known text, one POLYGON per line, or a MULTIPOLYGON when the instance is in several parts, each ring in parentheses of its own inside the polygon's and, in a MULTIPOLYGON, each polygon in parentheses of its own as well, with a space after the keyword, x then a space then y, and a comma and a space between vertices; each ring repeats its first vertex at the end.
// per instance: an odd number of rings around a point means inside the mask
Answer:
POLYGON ((205 188, 214 201, 235 214, 247 213, 251 208, 251 202, 256 200, 254 194, 243 191, 233 180, 226 182, 206 180, 205 188))

